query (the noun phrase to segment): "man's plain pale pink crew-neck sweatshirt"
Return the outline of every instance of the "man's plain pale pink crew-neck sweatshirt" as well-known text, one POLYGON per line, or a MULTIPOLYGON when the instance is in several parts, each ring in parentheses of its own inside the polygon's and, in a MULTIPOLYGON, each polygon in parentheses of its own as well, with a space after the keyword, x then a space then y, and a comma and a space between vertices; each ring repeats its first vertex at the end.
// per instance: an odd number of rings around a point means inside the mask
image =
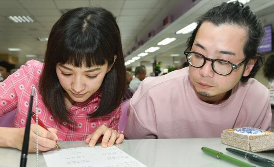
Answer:
POLYGON ((269 90, 251 78, 239 82, 228 100, 213 105, 200 100, 189 68, 146 78, 133 95, 124 130, 128 139, 213 138, 225 129, 271 130, 269 90))

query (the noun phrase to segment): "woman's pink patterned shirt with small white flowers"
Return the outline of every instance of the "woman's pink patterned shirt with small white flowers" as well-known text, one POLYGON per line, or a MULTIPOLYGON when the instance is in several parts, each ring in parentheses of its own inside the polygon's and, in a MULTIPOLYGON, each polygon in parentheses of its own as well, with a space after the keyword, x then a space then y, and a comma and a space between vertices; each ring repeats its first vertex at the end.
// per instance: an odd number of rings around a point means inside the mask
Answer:
MULTIPOLYGON (((34 86, 38 89, 38 82, 42 69, 43 63, 30 60, 0 83, 0 117, 17 108, 12 127, 25 127, 31 87, 34 86)), ((58 130, 57 136, 60 141, 85 140, 86 137, 100 125, 106 125, 109 128, 118 130, 121 106, 105 116, 87 118, 87 114, 96 111, 100 99, 101 94, 96 92, 85 102, 75 102, 70 108, 70 112, 72 113, 71 120, 76 124, 71 125, 66 122, 62 122, 61 124, 56 122, 51 111, 44 105, 41 95, 38 94, 38 117, 46 127, 58 130)), ((35 96, 33 98, 32 111, 36 112, 35 96)), ((34 124, 35 122, 31 120, 31 123, 34 124)))

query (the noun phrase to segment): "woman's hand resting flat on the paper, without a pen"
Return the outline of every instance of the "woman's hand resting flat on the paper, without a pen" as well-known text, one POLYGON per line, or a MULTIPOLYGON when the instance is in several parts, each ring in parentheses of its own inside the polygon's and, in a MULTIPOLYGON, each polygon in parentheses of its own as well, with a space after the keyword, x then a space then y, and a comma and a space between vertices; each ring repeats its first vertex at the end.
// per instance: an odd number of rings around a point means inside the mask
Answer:
POLYGON ((116 130, 108 128, 105 125, 101 125, 96 130, 88 135, 86 138, 86 144, 90 147, 94 147, 99 138, 103 135, 102 147, 110 147, 114 144, 120 144, 124 140, 124 135, 118 133, 116 130))

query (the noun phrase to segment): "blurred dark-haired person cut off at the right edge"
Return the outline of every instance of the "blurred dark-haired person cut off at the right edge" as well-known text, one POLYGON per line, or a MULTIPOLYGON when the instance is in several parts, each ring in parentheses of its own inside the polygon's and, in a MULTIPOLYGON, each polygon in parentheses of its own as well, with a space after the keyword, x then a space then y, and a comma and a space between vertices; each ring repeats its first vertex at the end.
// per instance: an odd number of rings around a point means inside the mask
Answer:
POLYGON ((264 75, 270 81, 268 88, 274 89, 274 55, 270 55, 266 59, 264 66, 264 75))

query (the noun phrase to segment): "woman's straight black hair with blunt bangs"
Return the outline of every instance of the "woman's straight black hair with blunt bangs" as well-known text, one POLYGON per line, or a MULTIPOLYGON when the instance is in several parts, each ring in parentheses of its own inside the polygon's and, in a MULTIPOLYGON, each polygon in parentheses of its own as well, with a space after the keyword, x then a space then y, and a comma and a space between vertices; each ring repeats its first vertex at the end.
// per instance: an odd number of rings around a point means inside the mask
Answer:
POLYGON ((50 31, 39 82, 43 102, 57 120, 72 123, 56 65, 92 67, 106 62, 108 66, 113 62, 114 65, 104 77, 99 89, 100 104, 88 115, 90 118, 106 115, 121 104, 125 92, 125 65, 120 30, 113 14, 104 8, 79 7, 63 14, 50 31))

